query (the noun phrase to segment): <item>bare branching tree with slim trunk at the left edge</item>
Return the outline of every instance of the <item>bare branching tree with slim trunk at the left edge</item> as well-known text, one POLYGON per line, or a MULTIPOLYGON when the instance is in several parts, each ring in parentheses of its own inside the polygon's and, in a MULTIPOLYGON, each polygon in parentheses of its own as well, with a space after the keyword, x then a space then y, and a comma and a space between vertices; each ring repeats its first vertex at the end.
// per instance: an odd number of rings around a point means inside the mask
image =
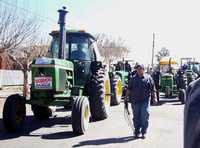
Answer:
POLYGON ((0 5, 0 22, 0 61, 6 54, 23 71, 23 95, 27 96, 30 63, 34 58, 47 53, 47 46, 36 46, 39 22, 35 17, 17 15, 17 10, 2 5, 0 5))

